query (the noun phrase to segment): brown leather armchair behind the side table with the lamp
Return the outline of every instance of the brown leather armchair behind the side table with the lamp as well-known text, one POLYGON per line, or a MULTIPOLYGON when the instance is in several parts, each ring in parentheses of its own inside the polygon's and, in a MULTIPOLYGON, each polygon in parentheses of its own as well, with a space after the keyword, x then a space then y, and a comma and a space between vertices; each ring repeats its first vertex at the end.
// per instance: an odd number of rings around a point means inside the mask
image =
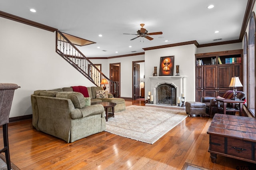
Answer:
MULTIPOLYGON (((201 102, 206 104, 206 113, 209 114, 211 118, 215 113, 218 112, 218 102, 215 100, 215 98, 231 99, 233 98, 233 90, 227 90, 221 97, 203 96, 201 98, 201 102)), ((237 91, 237 98, 239 100, 245 100, 245 93, 242 91, 237 91)))

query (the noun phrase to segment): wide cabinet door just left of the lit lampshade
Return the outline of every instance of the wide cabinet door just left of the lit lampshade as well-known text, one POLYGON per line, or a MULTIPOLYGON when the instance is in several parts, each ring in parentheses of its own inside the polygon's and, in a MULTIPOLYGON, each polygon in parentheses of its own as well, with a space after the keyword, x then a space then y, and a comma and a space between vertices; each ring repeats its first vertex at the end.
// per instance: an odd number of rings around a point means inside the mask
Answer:
POLYGON ((218 66, 217 89, 229 90, 230 80, 232 78, 232 64, 218 66))

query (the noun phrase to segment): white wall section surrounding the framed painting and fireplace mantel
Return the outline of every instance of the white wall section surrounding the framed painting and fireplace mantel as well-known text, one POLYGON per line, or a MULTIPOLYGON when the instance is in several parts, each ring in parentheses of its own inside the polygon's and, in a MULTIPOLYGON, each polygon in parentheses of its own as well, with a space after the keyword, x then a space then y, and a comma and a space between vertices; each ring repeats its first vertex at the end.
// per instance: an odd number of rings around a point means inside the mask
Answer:
POLYGON ((194 44, 182 45, 178 47, 168 47, 156 50, 145 51, 145 94, 148 91, 153 92, 150 87, 150 76, 153 75, 154 66, 157 66, 157 75, 159 75, 160 57, 174 55, 174 76, 176 74, 176 65, 180 65, 180 75, 187 76, 185 83, 185 101, 195 100, 195 50, 194 44))

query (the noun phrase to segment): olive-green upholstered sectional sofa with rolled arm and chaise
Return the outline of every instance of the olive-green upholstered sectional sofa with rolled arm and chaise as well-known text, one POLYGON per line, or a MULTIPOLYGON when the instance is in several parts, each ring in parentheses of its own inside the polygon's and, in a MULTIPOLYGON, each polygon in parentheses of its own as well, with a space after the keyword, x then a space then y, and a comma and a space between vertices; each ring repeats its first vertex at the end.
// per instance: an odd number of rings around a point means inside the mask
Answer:
MULTIPOLYGON (((90 102, 116 102, 115 112, 125 109, 124 99, 96 98, 96 90, 102 87, 88 87, 90 102)), ((87 104, 80 92, 70 87, 53 90, 36 90, 31 95, 32 125, 66 142, 74 142, 106 129, 105 111, 100 104, 87 104)), ((112 110, 110 110, 112 111, 112 110)))

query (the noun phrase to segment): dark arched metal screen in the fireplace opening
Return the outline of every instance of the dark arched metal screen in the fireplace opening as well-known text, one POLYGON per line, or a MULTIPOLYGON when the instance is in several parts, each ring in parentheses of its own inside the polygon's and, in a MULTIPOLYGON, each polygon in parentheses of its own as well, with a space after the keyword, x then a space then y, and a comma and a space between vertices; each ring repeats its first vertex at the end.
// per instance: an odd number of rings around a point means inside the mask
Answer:
POLYGON ((176 88, 171 84, 161 84, 156 88, 156 104, 176 105, 176 88))

